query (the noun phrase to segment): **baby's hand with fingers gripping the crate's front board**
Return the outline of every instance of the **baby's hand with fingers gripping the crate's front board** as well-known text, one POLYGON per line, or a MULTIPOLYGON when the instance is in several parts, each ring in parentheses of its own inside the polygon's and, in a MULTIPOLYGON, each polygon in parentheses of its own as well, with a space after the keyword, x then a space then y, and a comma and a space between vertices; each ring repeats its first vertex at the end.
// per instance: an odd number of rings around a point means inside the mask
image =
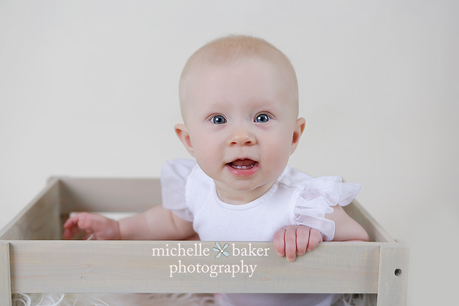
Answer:
POLYGON ((278 256, 284 256, 288 261, 295 260, 296 255, 300 256, 305 251, 310 251, 322 242, 322 235, 315 228, 305 225, 290 225, 274 234, 274 249, 278 256))

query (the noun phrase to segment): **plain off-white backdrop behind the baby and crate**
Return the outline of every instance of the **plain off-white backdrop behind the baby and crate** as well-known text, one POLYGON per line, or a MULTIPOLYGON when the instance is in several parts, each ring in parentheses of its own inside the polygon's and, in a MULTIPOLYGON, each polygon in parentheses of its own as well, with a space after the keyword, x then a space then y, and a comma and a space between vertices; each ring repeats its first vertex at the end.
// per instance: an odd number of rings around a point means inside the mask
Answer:
POLYGON ((0 0, 0 227, 50 175, 159 176, 187 157, 173 132, 185 61, 250 34, 297 71, 308 123, 290 165, 362 183, 410 245, 409 305, 452 301, 457 16, 454 1, 0 0))

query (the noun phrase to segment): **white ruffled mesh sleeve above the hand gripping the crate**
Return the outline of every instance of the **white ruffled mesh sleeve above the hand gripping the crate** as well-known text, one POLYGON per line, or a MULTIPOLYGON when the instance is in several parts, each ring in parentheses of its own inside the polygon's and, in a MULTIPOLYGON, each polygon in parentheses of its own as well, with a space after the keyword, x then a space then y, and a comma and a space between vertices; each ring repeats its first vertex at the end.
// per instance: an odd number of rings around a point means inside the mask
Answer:
POLYGON ((339 176, 322 176, 311 180, 296 201, 296 224, 315 228, 324 241, 333 240, 335 222, 326 219, 325 214, 333 213, 331 206, 348 205, 361 189, 360 184, 343 183, 339 176))

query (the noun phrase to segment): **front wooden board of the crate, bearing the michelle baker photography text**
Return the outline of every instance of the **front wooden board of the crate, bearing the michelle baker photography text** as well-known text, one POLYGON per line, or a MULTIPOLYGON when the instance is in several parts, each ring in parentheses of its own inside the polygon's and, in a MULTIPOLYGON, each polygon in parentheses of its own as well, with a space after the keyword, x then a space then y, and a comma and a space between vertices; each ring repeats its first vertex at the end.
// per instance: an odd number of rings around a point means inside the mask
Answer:
MULTIPOLYGON (((223 241, 220 241, 223 245, 223 241)), ((324 242, 312 252, 288 262, 272 243, 268 256, 215 258, 209 241, 12 241, 12 292, 310 292, 376 293, 379 243, 324 242), (152 248, 209 248, 209 256, 152 256, 152 248), (250 273, 175 273, 170 266, 257 265, 250 273), (282 284, 282 286, 279 286, 282 284)), ((239 249, 249 242, 235 242, 239 249)), ((173 269, 173 267, 172 267, 173 269)), ((226 268, 225 268, 226 269, 226 268)), ((236 269, 236 268, 235 268, 236 269)), ((251 270, 248 268, 248 270, 251 270)))

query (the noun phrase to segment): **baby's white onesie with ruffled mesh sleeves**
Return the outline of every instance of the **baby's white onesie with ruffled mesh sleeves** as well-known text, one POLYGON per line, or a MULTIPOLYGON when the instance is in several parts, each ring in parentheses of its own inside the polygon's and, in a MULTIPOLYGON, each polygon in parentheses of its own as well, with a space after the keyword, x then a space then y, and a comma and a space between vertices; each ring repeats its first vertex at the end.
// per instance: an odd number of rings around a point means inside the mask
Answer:
MULTIPOLYGON (((361 188, 359 184, 342 183, 339 176, 314 179, 287 166, 261 197, 243 205, 231 205, 219 199, 214 181, 202 172, 195 160, 170 160, 161 172, 163 206, 192 221, 194 231, 203 241, 272 241, 274 233, 288 225, 316 228, 324 241, 331 241, 335 222, 326 219, 325 214, 333 212, 331 206, 348 205, 361 188)), ((231 296, 235 300, 239 295, 231 296)), ((304 299, 292 294, 263 296, 244 294, 243 300, 252 305, 266 304, 266 299, 275 304, 277 298, 286 301, 289 296, 301 305, 309 305, 312 300, 315 305, 329 305, 334 300, 329 294, 309 294, 309 298, 301 294, 304 299)), ((292 303, 289 301, 289 304, 292 303)))

